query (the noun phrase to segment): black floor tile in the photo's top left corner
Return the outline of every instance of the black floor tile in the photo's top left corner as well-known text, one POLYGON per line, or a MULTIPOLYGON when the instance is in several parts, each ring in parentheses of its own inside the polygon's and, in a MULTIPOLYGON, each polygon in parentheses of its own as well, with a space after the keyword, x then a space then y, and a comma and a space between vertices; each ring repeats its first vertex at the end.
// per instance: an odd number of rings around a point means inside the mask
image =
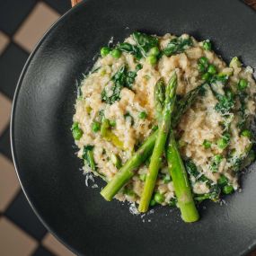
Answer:
POLYGON ((0 30, 13 35, 36 3, 36 0, 1 0, 0 30))

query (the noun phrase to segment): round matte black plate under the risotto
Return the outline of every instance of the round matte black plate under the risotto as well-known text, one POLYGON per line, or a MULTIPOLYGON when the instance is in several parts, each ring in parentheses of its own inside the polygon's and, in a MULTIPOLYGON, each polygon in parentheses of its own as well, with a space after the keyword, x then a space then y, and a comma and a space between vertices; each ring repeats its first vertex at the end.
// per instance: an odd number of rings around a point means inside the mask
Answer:
MULTIPOLYGON (((22 188, 43 223, 75 253, 85 255, 244 255, 256 244, 256 172, 243 192, 220 206, 200 205, 201 219, 184 224, 179 210, 133 216, 86 188, 70 127, 75 81, 93 66, 110 36, 132 31, 190 33, 214 41, 226 60, 256 66, 256 13, 245 4, 210 0, 88 0, 66 13, 31 54, 15 93, 13 158, 22 188), (151 220, 151 222, 149 222, 151 220)), ((97 181, 100 186, 102 181, 97 181)))

